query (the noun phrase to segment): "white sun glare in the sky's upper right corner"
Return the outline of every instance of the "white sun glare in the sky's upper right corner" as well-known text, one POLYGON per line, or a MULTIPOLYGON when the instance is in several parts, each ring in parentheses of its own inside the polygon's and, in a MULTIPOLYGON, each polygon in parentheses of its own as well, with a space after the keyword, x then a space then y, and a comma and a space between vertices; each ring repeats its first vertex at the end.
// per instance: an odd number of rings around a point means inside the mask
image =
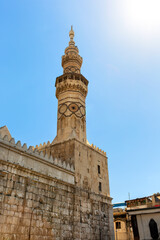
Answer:
POLYGON ((145 35, 160 34, 160 0, 128 0, 125 11, 132 30, 145 35))

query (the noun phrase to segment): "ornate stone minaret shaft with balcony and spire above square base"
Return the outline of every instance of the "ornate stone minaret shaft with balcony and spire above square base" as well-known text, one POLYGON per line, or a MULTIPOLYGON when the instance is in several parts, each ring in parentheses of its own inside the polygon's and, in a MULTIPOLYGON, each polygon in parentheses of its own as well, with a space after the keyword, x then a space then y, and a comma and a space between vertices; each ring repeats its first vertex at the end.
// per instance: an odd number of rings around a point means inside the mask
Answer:
POLYGON ((56 78, 58 99, 56 142, 76 138, 86 143, 86 104, 88 80, 81 74, 82 57, 75 46, 74 31, 62 56, 63 75, 56 78))

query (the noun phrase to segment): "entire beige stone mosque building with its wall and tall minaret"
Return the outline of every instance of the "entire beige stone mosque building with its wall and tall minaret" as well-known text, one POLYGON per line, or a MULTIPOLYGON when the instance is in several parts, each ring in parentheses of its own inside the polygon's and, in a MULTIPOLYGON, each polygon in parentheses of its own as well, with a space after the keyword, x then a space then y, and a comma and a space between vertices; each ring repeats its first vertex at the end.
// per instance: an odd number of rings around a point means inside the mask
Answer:
POLYGON ((113 240, 106 153, 86 137, 88 80, 74 32, 56 79, 57 136, 29 148, 0 128, 0 240, 113 240))

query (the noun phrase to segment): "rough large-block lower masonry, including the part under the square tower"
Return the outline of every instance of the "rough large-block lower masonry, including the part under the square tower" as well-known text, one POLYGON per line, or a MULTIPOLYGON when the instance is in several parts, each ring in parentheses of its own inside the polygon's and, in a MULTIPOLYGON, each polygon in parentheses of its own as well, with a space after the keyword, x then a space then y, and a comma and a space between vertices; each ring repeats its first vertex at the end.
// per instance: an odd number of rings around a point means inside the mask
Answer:
POLYGON ((0 240, 109 240, 106 199, 1 161, 0 240))

